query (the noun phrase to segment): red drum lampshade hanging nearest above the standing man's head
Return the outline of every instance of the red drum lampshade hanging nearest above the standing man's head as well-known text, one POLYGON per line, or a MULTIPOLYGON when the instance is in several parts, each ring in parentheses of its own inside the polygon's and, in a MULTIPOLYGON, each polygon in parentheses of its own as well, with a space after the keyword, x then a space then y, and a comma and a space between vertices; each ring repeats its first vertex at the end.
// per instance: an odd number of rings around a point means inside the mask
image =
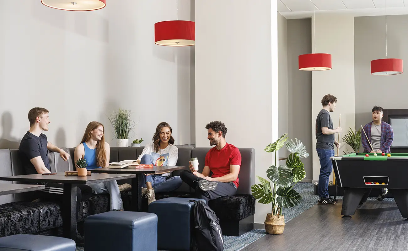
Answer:
POLYGON ((331 68, 331 54, 310 53, 299 55, 299 70, 324 71, 331 68))

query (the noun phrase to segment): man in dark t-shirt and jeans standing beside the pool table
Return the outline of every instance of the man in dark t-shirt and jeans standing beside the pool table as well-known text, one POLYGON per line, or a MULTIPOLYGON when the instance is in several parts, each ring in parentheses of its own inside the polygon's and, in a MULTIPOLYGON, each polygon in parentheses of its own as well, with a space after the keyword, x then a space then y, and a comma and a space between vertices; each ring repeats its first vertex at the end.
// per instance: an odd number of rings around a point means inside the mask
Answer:
POLYGON ((334 199, 329 196, 328 185, 330 173, 333 169, 330 157, 334 156, 334 145, 340 148, 340 142, 337 142, 335 133, 341 133, 341 127, 333 130, 333 121, 330 118, 330 113, 336 108, 337 98, 327 94, 322 99, 323 109, 319 112, 316 118, 316 151, 320 161, 319 186, 317 192, 319 194, 318 204, 334 205, 334 199))

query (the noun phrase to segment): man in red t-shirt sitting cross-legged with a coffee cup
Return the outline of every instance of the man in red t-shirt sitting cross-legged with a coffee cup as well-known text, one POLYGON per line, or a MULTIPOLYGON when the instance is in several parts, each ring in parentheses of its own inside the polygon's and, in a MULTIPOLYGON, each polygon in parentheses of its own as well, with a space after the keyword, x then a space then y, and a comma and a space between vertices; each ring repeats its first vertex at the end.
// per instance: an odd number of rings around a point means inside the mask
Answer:
POLYGON ((238 173, 241 168, 241 153, 238 148, 225 141, 227 129, 220 121, 213 121, 206 125, 208 140, 214 146, 205 157, 202 173, 190 170, 180 173, 180 178, 195 189, 196 198, 214 200, 221 196, 232 196, 239 186, 238 173))

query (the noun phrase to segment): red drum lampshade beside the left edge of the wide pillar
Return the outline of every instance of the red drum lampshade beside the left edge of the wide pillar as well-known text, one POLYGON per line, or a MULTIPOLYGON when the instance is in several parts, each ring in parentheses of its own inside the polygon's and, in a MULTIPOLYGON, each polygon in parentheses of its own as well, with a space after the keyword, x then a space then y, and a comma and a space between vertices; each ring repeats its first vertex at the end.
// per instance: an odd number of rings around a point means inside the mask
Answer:
POLYGON ((155 44, 190 46, 195 44, 195 22, 172 20, 154 24, 155 44))

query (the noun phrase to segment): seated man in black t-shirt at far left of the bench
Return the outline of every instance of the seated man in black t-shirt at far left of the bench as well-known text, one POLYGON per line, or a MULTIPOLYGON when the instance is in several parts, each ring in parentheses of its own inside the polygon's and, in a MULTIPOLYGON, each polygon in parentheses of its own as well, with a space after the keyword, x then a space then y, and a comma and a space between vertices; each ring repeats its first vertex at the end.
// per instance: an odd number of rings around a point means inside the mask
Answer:
MULTIPOLYGON (((42 131, 48 131, 49 111, 45 108, 35 107, 28 113, 30 130, 24 135, 20 142, 19 157, 26 174, 51 173, 48 159, 48 150, 60 153, 61 158, 66 161, 69 154, 47 141, 47 136, 42 131)), ((45 200, 61 200, 64 194, 64 184, 43 183, 45 189, 40 190, 39 196, 45 200)), ((77 211, 80 201, 87 200, 92 196, 92 188, 77 184, 77 211)), ((62 209, 64 210, 64 209, 62 209)), ((69 209, 67 209, 69 210, 69 209)), ((78 236, 81 238, 81 236, 78 236)))

